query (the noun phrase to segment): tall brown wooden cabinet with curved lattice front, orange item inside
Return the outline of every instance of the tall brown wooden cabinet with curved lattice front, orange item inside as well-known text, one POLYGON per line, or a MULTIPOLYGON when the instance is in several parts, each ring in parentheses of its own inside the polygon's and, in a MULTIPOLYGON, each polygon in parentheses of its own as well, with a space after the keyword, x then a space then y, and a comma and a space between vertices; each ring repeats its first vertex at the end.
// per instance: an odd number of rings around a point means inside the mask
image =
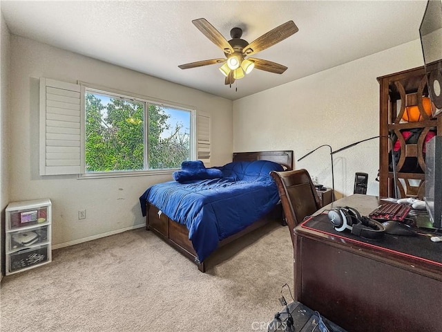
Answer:
MULTIPOLYGON (((392 161, 396 160, 398 194, 401 198, 422 198, 425 192, 425 140, 442 134, 442 118, 432 118, 424 111, 428 96, 425 68, 413 68, 378 77, 381 88, 379 150, 379 195, 394 197, 392 161), (403 120, 414 107, 418 121, 403 120), (410 133, 413 140, 410 142, 410 133), (392 140, 394 151, 392 153, 392 140), (397 140, 396 140, 397 138, 397 140)), ((410 116, 411 118, 411 116, 410 116)))

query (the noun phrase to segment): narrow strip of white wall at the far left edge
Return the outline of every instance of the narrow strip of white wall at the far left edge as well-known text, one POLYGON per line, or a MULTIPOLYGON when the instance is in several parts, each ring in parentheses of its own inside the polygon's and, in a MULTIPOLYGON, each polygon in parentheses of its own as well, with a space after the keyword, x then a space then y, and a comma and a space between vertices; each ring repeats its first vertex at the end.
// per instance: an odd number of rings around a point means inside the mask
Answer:
MULTIPOLYGON (((1 5, 0 5, 1 6, 1 5)), ((4 248, 3 232, 5 224, 5 208, 9 203, 9 66, 10 66, 10 33, 3 14, 0 11, 0 252, 3 270, 4 248)), ((0 274, 1 279, 1 274, 0 274)))

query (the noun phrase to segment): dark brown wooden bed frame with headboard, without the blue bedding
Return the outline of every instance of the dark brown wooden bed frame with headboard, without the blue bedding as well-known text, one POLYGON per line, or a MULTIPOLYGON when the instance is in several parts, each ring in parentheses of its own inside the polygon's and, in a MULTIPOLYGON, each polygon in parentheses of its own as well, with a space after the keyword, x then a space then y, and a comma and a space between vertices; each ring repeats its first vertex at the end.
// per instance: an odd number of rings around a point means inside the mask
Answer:
MULTIPOLYGON (((258 152, 236 152, 233 153, 233 161, 253 161, 270 160, 281 164, 285 169, 293 169, 293 151, 258 151, 258 152)), ((164 213, 158 213, 159 210, 151 203, 146 202, 146 230, 152 230, 157 236, 169 243, 170 246, 181 252, 184 256, 194 261, 198 270, 206 272, 206 260, 200 261, 198 255, 193 249, 192 242, 189 240, 189 230, 185 225, 177 223, 170 219, 164 213)), ((233 240, 243 237, 245 234, 256 230, 271 221, 282 221, 282 208, 278 204, 266 216, 252 223, 244 230, 223 239, 218 244, 217 251, 233 240)), ((210 258, 210 256, 209 256, 210 258)))

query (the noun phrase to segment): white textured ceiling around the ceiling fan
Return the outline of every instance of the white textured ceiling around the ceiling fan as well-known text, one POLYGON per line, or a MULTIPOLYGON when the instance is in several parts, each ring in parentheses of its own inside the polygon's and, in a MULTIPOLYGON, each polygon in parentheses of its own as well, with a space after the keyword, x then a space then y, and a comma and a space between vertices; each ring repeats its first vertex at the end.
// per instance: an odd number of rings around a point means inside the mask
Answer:
POLYGON ((236 100, 419 38, 426 1, 1 1, 10 32, 236 100), (298 33, 253 57, 283 64, 253 70, 231 87, 224 57, 191 21, 204 17, 226 39, 240 27, 252 42, 293 20, 298 33))

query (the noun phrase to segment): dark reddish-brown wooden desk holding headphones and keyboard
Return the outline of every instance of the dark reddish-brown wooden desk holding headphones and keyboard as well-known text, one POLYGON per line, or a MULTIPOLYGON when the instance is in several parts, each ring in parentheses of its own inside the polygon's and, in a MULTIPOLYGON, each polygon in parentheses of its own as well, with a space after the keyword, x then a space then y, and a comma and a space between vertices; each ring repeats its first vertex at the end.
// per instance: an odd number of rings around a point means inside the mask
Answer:
POLYGON ((295 228, 295 299, 347 331, 442 331, 442 243, 365 240, 336 232, 320 214, 347 205, 367 215, 379 203, 354 194, 295 228))

